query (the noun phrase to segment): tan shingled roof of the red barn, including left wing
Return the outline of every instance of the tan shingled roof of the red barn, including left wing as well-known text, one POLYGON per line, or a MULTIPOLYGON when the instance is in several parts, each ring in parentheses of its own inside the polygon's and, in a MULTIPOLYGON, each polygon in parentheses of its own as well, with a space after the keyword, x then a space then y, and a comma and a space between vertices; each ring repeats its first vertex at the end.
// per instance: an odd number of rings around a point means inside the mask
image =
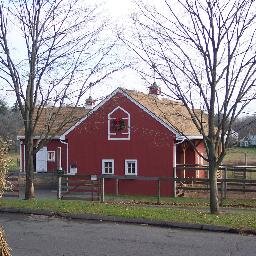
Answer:
MULTIPOLYGON (((188 110, 182 103, 166 98, 159 99, 154 95, 148 95, 134 90, 118 88, 91 111, 96 111, 99 106, 103 105, 117 92, 128 95, 134 101, 139 103, 139 105, 146 108, 149 112, 153 113, 156 117, 160 118, 164 123, 170 125, 179 133, 186 136, 201 135, 194 125, 188 110)), ((72 127, 77 126, 81 120, 84 120, 88 116, 89 112, 90 110, 82 107, 68 106, 62 108, 44 108, 39 115, 38 123, 35 128, 35 136, 40 136, 47 132, 49 132, 49 135, 54 135, 56 137, 61 136, 68 130, 72 130, 72 127)), ((202 118, 206 125, 207 115, 203 114, 202 118)), ((24 129, 20 131, 19 135, 24 135, 24 129)))

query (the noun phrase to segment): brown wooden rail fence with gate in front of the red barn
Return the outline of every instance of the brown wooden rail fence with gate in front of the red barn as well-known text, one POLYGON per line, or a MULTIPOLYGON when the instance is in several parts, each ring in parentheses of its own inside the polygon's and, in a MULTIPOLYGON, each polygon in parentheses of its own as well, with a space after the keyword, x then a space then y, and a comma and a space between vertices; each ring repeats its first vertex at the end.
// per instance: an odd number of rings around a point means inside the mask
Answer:
MULTIPOLYGON (((188 175, 189 176, 189 175, 188 175)), ((174 176, 165 177, 144 177, 144 176, 118 176, 118 175, 63 175, 60 176, 61 182, 58 187, 58 198, 85 198, 85 195, 91 196, 94 200, 105 200, 105 180, 114 181, 115 195, 120 193, 121 180, 139 180, 139 181, 156 181, 156 194, 157 201, 161 199, 161 184, 162 182, 170 182, 173 184, 173 194, 176 196, 178 190, 182 191, 209 191, 209 179, 208 179, 208 166, 190 165, 177 166, 174 170, 174 176), (186 170, 186 173, 190 173, 193 177, 178 177, 175 175, 177 170, 186 170), (205 171, 205 177, 197 178, 195 173, 198 171, 205 171), (80 194, 79 194, 80 193, 80 194), (77 194, 78 196, 74 196, 77 194)), ((220 199, 226 198, 227 193, 235 192, 256 192, 256 166, 221 166, 218 172, 218 190, 220 192, 220 199), (234 173, 243 173, 242 176, 236 176, 234 173), (250 178, 248 173, 253 174, 253 178, 250 178)))

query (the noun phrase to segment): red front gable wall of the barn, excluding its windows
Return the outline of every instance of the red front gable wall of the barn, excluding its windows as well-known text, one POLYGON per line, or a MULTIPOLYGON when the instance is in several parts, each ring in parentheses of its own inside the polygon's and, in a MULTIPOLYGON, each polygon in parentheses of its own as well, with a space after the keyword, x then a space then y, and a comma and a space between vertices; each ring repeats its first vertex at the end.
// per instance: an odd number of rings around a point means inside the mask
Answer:
MULTIPOLYGON (((174 135, 122 94, 117 94, 67 135, 69 164, 78 174, 101 174, 102 159, 114 159, 115 175, 125 175, 125 159, 137 159, 138 176, 173 176, 174 135), (116 107, 130 114, 130 140, 108 140, 108 114, 116 107)), ((156 195, 156 182, 120 181, 121 194, 156 195)), ((163 195, 173 194, 171 182, 161 184, 163 195)), ((106 181, 115 193, 115 182, 106 181)))

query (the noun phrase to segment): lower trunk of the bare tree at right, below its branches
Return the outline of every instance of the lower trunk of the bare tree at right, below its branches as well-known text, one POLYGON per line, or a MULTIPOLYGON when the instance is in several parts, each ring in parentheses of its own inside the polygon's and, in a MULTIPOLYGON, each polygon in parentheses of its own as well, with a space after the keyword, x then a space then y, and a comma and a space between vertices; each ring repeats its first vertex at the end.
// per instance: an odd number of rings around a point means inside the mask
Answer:
POLYGON ((209 162, 210 212, 212 214, 219 214, 217 169, 214 161, 209 162))

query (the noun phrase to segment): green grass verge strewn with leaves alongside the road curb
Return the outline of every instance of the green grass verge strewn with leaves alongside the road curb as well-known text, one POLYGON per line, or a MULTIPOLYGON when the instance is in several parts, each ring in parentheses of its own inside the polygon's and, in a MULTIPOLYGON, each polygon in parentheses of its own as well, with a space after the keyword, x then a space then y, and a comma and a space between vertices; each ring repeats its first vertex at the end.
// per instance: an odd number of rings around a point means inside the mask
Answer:
POLYGON ((55 213, 82 213, 125 218, 142 218, 145 220, 213 224, 240 229, 256 229, 255 211, 248 210, 211 215, 208 212, 208 208, 143 206, 121 203, 59 201, 54 199, 35 199, 29 201, 1 199, 0 207, 49 210, 55 213))

